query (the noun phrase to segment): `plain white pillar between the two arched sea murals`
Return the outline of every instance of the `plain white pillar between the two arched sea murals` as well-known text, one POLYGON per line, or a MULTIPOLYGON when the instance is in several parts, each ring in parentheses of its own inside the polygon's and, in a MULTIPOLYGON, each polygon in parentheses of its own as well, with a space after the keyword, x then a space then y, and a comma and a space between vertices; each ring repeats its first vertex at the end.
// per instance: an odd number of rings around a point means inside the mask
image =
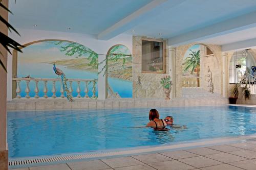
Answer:
POLYGON ((98 75, 98 99, 105 100, 107 98, 108 70, 106 67, 103 70, 102 68, 108 64, 106 62, 106 56, 99 55, 98 62, 101 63, 98 66, 98 72, 100 72, 98 75))

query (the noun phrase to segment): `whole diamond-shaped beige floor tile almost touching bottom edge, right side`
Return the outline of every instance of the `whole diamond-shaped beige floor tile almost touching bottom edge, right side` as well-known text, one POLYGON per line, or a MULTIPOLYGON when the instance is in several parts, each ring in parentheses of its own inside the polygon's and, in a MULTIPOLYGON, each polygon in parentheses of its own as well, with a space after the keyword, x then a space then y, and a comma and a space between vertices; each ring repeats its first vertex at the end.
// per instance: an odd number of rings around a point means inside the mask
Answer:
POLYGON ((203 156, 179 159, 179 161, 197 168, 222 164, 222 162, 219 162, 210 158, 205 158, 203 156))

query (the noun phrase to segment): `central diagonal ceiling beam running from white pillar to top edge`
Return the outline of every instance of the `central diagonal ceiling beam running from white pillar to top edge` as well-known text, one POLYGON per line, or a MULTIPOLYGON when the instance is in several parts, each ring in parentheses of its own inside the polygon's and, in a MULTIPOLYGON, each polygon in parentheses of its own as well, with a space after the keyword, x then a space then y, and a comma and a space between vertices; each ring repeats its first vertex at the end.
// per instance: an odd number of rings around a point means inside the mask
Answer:
POLYGON ((143 22, 147 18, 154 17, 159 13, 163 12, 163 9, 170 9, 174 6, 177 6, 183 3, 186 0, 153 0, 142 8, 138 9, 134 13, 126 16, 121 19, 113 26, 108 29, 102 31, 98 34, 98 39, 108 40, 111 39, 127 30, 132 29, 134 26, 143 22))

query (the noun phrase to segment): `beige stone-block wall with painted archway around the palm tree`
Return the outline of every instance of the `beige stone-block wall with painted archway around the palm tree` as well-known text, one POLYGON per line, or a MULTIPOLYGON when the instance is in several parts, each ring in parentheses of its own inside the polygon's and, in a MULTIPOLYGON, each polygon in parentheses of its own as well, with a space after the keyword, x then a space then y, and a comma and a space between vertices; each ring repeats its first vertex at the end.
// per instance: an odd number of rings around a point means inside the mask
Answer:
MULTIPOLYGON (((194 87, 202 88, 202 91, 209 91, 208 77, 209 72, 211 72, 211 81, 214 86, 214 93, 221 94, 221 47, 218 45, 208 45, 203 43, 190 43, 186 45, 177 46, 176 48, 176 95, 178 97, 183 96, 183 88, 194 87), (199 68, 188 67, 190 68, 184 71, 186 64, 184 60, 186 54, 192 53, 191 47, 197 46, 197 49, 194 52, 200 54, 199 68), (191 51, 190 51, 191 50, 191 51), (208 69, 209 67, 209 69, 208 69), (209 70, 209 71, 208 71, 209 70), (193 79, 193 80, 191 80, 193 79), (195 81, 196 79, 197 81, 195 81), (198 82, 199 81, 199 82, 198 82), (189 85, 188 85, 189 82, 189 85)), ((197 62, 198 63, 198 62, 197 62)), ((190 93, 190 92, 188 92, 190 93)), ((193 93, 194 94, 194 93, 193 93)), ((192 96, 192 95, 189 95, 192 96)))

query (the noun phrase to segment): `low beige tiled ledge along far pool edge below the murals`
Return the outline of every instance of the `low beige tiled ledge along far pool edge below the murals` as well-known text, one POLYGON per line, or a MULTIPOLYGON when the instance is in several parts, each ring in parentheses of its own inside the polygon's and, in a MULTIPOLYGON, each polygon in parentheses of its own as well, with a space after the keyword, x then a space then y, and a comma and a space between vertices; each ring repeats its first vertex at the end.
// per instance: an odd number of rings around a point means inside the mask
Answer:
MULTIPOLYGON (((253 98, 254 99, 254 98, 253 98)), ((252 99, 252 100, 253 100, 252 99)), ((254 100, 255 101, 255 100, 254 100)), ((8 111, 31 111, 31 110, 88 110, 88 109, 115 109, 136 107, 184 107, 184 106, 207 106, 228 104, 227 98, 175 98, 164 99, 106 99, 90 100, 75 99, 75 102, 67 102, 65 99, 14 99, 7 103, 8 111), (209 103, 205 102, 209 101, 209 103), (27 107, 26 107, 27 106, 27 107)))

